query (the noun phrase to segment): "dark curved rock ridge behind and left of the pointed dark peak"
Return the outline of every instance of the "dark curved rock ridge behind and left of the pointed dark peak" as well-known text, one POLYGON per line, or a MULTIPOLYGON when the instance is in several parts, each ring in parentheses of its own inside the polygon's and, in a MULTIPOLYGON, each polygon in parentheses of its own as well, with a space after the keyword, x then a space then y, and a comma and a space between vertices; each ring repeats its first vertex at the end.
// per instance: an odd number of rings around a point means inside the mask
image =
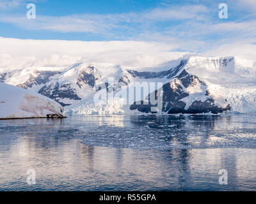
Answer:
POLYGON ((134 71, 134 70, 128 70, 128 73, 130 73, 132 75, 132 77, 140 77, 140 78, 172 78, 175 75, 177 75, 177 73, 179 73, 179 71, 184 68, 184 66, 186 66, 186 64, 188 63, 187 60, 182 60, 180 61, 180 64, 175 67, 174 69, 169 69, 167 71, 159 71, 159 72, 154 72, 154 71, 134 71))

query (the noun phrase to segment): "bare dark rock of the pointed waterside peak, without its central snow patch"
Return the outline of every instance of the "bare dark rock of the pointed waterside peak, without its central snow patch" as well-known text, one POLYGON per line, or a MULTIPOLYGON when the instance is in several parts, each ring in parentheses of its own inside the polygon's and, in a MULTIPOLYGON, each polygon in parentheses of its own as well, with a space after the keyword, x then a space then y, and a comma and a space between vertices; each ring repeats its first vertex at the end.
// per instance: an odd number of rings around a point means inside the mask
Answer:
MULTIPOLYGON (((202 82, 195 75, 190 75, 186 70, 183 70, 177 78, 174 78, 170 81, 170 83, 163 85, 163 91, 159 92, 156 90, 147 96, 145 101, 140 101, 140 103, 136 102, 130 106, 131 110, 138 110, 144 113, 156 113, 152 112, 151 108, 156 105, 152 105, 150 103, 150 97, 157 99, 158 94, 162 94, 163 96, 163 108, 162 112, 166 112, 169 114, 175 113, 221 113, 227 110, 230 110, 230 105, 227 105, 225 108, 221 108, 218 105, 214 104, 214 99, 209 96, 209 91, 205 91, 202 93, 202 96, 205 96, 204 101, 200 101, 200 99, 194 99, 193 103, 186 108, 186 103, 182 101, 182 99, 189 96, 189 93, 186 92, 186 88, 194 87, 195 85, 206 86, 204 82, 202 82), (149 102, 148 102, 149 101, 149 102), (145 104, 148 103, 147 104, 145 104), (139 105, 140 104, 140 105, 139 105)), ((227 101, 226 101, 227 102, 227 101)))

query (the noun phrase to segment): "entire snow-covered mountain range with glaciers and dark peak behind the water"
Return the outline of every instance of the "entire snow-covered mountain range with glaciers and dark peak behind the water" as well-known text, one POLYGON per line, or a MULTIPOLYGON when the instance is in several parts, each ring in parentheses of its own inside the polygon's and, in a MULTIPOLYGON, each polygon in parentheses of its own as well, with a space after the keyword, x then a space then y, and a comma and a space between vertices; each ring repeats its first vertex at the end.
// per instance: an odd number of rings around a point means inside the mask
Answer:
POLYGON ((0 81, 52 98, 70 114, 154 112, 145 103, 157 96, 163 113, 256 112, 255 63, 237 57, 184 57, 148 71, 104 63, 0 69, 0 81))

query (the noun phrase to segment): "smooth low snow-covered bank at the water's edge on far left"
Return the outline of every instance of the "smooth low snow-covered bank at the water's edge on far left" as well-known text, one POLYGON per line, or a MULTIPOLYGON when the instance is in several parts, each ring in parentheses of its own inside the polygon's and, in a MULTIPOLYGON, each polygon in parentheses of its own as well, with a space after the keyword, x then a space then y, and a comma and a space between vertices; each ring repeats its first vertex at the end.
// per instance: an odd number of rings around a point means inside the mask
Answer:
POLYGON ((0 119, 63 117, 63 107, 36 92, 0 83, 0 119))

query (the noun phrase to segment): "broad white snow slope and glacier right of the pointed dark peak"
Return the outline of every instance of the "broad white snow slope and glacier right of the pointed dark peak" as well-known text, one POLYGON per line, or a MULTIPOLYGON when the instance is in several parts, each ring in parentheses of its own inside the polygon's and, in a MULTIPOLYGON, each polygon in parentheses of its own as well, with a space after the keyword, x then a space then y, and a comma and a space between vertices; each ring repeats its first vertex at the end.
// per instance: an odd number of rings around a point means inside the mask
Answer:
POLYGON ((239 57, 189 57, 186 70, 204 79, 209 92, 233 112, 256 112, 255 62, 239 57))

